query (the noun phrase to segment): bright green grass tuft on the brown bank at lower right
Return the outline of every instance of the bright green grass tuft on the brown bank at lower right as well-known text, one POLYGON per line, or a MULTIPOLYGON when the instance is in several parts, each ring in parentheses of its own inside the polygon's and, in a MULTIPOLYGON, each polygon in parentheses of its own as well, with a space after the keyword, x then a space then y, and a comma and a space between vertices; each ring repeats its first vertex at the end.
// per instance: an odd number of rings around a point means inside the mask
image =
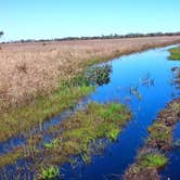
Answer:
POLYGON ((160 168, 164 167, 168 158, 159 153, 145 153, 140 156, 140 166, 146 168, 160 168))

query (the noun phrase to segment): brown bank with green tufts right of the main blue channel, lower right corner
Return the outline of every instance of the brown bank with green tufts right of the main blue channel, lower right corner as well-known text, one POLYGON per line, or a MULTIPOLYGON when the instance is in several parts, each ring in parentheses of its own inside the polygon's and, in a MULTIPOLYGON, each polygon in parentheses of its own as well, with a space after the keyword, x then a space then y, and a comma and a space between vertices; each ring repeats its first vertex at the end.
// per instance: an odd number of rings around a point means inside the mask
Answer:
POLYGON ((137 160, 127 169, 125 180, 159 180, 158 170, 163 168, 168 158, 166 153, 172 146, 172 131, 179 121, 180 99, 176 99, 162 111, 157 120, 149 127, 150 136, 145 145, 139 151, 137 160))

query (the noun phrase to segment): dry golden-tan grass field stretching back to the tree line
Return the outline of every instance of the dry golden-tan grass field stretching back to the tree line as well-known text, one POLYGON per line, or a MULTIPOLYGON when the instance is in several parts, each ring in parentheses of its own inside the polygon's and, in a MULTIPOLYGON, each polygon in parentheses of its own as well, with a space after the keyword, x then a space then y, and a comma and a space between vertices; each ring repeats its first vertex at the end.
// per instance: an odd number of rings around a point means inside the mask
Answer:
POLYGON ((178 42, 179 36, 1 44, 1 111, 4 104, 16 106, 50 93, 94 62, 178 42))

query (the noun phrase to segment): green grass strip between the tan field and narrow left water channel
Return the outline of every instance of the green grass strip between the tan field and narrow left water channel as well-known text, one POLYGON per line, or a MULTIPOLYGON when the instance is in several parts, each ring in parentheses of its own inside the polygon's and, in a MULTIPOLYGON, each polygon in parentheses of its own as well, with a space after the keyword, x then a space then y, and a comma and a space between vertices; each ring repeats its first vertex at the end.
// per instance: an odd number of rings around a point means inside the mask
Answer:
POLYGON ((17 107, 11 112, 1 114, 0 141, 49 120, 65 108, 70 107, 78 99, 90 94, 93 89, 91 86, 75 87, 63 85, 51 95, 39 98, 27 106, 17 107))

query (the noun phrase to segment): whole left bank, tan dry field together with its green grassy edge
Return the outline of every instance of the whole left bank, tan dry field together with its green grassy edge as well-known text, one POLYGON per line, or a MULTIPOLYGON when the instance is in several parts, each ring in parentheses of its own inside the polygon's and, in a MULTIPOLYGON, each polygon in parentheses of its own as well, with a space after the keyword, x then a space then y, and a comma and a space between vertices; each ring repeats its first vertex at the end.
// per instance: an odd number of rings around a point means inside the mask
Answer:
MULTIPOLYGON (((78 41, 73 52, 69 52, 69 49, 73 46, 72 43, 75 42, 66 42, 63 44, 64 49, 61 49, 62 54, 59 49, 52 52, 54 44, 51 43, 46 47, 28 44, 31 47, 18 47, 18 50, 10 46, 12 48, 10 48, 10 52, 8 48, 8 50, 4 49, 0 54, 5 65, 8 64, 5 56, 9 56, 10 60, 12 57, 12 62, 10 62, 12 66, 3 68, 2 75, 4 76, 2 80, 0 78, 0 127, 2 127, 0 141, 9 139, 22 131, 29 130, 33 126, 37 126, 50 119, 52 116, 72 106, 80 98, 89 94, 93 89, 92 87, 87 85, 70 85, 72 79, 77 77, 79 72, 82 72, 89 65, 104 62, 121 54, 140 52, 150 48, 168 46, 179 41, 178 37, 175 39, 168 38, 168 40, 166 40, 166 38, 140 38, 134 39, 132 42, 134 44, 130 47, 129 42, 131 42, 131 39, 125 40, 125 42, 124 40, 82 41, 82 44, 80 43, 81 41, 78 41), (97 43, 99 46, 97 46, 97 43), (125 46, 125 49, 118 49, 117 47, 121 46, 117 44, 125 46), (59 54, 68 61, 62 64, 57 59, 59 54), (53 60, 49 57, 51 55, 53 60), (25 60, 23 60, 24 63, 18 61, 20 56, 25 56, 25 60), (29 57, 33 57, 33 62, 29 61, 29 57), (34 61, 34 59, 38 59, 38 61, 34 61), (40 61, 42 61, 43 64, 40 61), (4 69, 9 69, 9 72, 5 74, 4 69), (12 72, 10 69, 12 69, 12 72), (9 76, 10 74, 13 74, 13 78, 12 75, 9 76), (61 82, 57 83, 56 81, 61 82), (65 81, 65 83, 62 81, 65 81), (10 85, 7 82, 10 82, 10 85), (34 90, 36 93, 34 93, 34 90)), ((2 66, 4 66, 4 64, 2 64, 2 66)), ((81 79, 78 80, 80 81, 81 79)))

